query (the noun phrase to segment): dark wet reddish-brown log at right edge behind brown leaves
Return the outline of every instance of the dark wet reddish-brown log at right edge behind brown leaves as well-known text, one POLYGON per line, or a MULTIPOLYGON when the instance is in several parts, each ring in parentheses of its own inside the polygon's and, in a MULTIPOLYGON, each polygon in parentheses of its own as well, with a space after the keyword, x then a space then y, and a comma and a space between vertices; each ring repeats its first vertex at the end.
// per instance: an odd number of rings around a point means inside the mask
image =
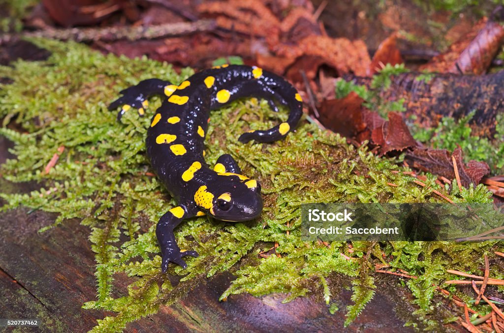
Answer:
MULTIPOLYGON (((345 75, 357 85, 372 78, 345 75)), ((422 127, 435 127, 443 117, 460 119, 475 111, 474 135, 492 137, 496 115, 504 111, 504 70, 488 75, 403 73, 391 76, 390 87, 378 88, 383 101, 404 99, 405 116, 415 115, 422 127)))

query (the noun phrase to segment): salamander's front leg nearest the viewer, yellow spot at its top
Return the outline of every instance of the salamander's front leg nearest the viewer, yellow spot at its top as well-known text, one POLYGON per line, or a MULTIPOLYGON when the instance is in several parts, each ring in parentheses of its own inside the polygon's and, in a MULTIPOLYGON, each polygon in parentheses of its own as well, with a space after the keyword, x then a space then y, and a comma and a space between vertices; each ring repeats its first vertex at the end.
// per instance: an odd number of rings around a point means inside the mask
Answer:
POLYGON ((175 235, 173 234, 173 229, 182 222, 184 217, 188 216, 187 210, 183 206, 177 206, 166 212, 161 218, 156 226, 156 236, 161 247, 161 271, 166 273, 168 269, 168 263, 172 262, 183 268, 187 267, 185 261, 182 257, 191 256, 198 257, 196 251, 184 251, 180 252, 180 248, 175 241, 175 235))

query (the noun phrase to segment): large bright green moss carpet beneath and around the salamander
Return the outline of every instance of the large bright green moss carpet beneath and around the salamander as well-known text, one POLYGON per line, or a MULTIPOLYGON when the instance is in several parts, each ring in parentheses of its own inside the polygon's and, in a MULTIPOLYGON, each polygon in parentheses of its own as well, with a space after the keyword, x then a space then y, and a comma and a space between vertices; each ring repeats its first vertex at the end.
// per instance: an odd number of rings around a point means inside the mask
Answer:
MULTIPOLYGON (((200 257, 188 258, 186 270, 170 265, 170 274, 185 275, 172 286, 160 274, 154 228, 174 201, 147 173, 144 137, 149 117, 127 113, 117 123, 106 105, 118 91, 141 79, 180 82, 193 71, 184 69, 177 75, 170 65, 148 59, 105 56, 76 43, 35 42, 53 52, 47 61, 0 67, 0 76, 13 79, 11 85, 0 87, 0 117, 6 122, 15 119, 27 132, 0 129, 14 141, 12 151, 17 156, 2 166, 2 174, 8 181, 36 181, 43 188, 30 194, 0 194, 8 202, 2 209, 24 205, 58 213, 56 224, 78 217, 89 226, 96 253, 97 296, 84 307, 116 313, 98 320, 94 331, 120 331, 129 322, 155 313, 161 304, 172 304, 205 278, 227 270, 237 279, 222 298, 242 292, 256 296, 282 292, 289 301, 321 290, 332 312, 337 306, 329 305, 331 287, 326 279, 334 273, 348 276, 355 302, 347 309, 348 324, 373 296, 376 261, 419 277, 408 281, 423 311, 412 320, 429 324, 425 318, 432 311, 435 286, 451 278, 446 269, 476 273, 482 254, 497 244, 354 242, 350 248, 341 242, 301 241, 302 203, 441 200, 433 189, 454 201, 488 202, 490 197, 481 186, 448 193, 432 175, 426 175, 425 188, 419 187, 394 160, 355 149, 338 135, 305 122, 285 140, 243 145, 237 142, 243 130, 268 128, 287 117, 285 111, 271 112, 265 101, 248 99, 212 113, 207 160, 211 164, 220 154, 230 153, 244 174, 258 179, 264 189, 263 214, 248 223, 206 217, 182 223, 175 230, 180 247, 195 249, 200 257), (45 174, 45 165, 60 146, 64 152, 45 174), (274 242, 279 256, 260 258, 258 253, 274 242), (113 298, 114 275, 119 272, 137 278, 127 296, 113 298)), ((159 100, 153 99, 151 105, 159 106, 159 100)), ((493 270, 493 276, 502 275, 493 270)))

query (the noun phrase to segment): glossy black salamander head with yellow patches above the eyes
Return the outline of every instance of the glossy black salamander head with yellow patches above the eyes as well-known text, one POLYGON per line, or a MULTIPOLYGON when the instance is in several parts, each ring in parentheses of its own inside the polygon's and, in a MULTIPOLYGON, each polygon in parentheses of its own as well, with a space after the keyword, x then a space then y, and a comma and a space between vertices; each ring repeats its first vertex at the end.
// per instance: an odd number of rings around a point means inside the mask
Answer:
POLYGON ((219 174, 212 186, 195 194, 198 206, 218 220, 240 222, 257 218, 263 211, 261 185, 241 175, 219 174))

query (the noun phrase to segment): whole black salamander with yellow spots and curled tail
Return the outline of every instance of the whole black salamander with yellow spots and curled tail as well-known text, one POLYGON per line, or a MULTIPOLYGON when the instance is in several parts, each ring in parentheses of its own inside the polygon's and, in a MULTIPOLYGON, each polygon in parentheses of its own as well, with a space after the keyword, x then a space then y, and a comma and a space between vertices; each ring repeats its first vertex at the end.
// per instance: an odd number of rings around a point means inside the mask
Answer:
MULTIPOLYGON (((286 122, 269 130, 248 131, 239 141, 271 142, 294 129, 302 115, 302 100, 294 87, 281 76, 259 67, 222 65, 200 71, 178 86, 151 78, 120 92, 109 110, 122 107, 118 120, 128 110, 145 114, 147 98, 166 96, 151 120, 146 148, 152 168, 179 203, 159 220, 156 236, 161 247, 162 272, 173 262, 186 268, 185 256, 198 257, 196 251, 180 251, 173 229, 183 220, 210 214, 224 221, 257 218, 263 209, 261 186, 241 175, 229 154, 220 156, 213 169, 205 162, 204 140, 211 110, 241 97, 258 97, 268 101, 274 111, 277 104, 287 106, 286 122)), ((224 125, 224 124, 223 124, 224 125)))

